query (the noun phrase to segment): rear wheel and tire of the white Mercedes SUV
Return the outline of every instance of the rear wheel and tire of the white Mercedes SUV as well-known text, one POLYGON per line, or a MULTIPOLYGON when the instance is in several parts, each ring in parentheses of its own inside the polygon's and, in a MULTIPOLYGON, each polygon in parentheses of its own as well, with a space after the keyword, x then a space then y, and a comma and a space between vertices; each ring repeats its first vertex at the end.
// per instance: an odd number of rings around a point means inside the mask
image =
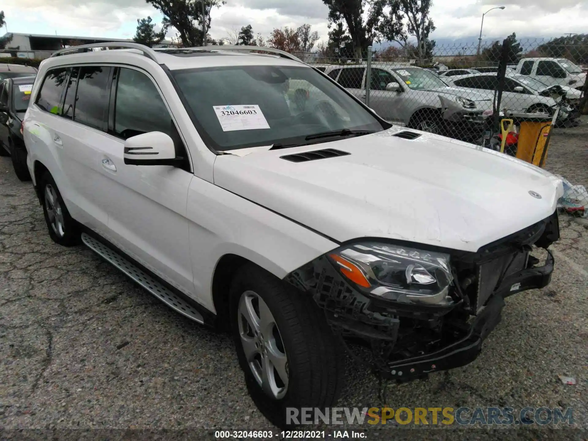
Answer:
POLYGON ((79 243, 79 225, 69 215, 64 199, 57 188, 51 173, 45 172, 39 180, 41 202, 45 222, 51 239, 63 246, 74 246, 79 243))

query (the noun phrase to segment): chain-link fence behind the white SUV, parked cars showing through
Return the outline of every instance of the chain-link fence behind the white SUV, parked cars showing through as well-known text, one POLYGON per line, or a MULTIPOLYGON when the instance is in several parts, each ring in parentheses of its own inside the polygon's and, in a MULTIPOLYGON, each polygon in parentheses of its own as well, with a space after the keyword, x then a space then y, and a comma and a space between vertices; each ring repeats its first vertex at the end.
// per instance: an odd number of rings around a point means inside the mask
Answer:
MULTIPOLYGON (((550 132, 588 113, 588 37, 433 48, 425 59, 391 47, 305 61, 386 121, 485 146, 543 166, 550 132)), ((573 194, 572 194, 573 193, 573 194)), ((588 217, 588 193, 563 206, 588 217), (586 206, 586 211, 584 211, 586 206)), ((572 197, 575 196, 575 197, 572 197)))

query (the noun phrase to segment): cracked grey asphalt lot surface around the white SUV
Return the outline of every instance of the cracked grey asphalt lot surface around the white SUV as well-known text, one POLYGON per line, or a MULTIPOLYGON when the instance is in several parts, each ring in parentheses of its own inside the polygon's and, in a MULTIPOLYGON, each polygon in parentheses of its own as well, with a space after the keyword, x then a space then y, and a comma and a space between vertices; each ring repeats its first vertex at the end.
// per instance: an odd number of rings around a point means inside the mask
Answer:
MULTIPOLYGON (((554 132, 547 169, 588 186, 583 118, 577 128, 554 132)), ((395 409, 571 406, 576 429, 347 428, 367 430, 367 439, 502 439, 505 433, 507 439, 586 439, 585 223, 562 216, 551 285, 506 300, 502 322, 475 362, 387 392, 395 409), (558 375, 576 377, 577 384, 563 385, 558 375)), ((88 249, 55 245, 31 184, 16 179, 9 158, 0 158, 0 354, 0 439, 212 439, 215 429, 277 432, 249 399, 229 336, 174 313, 88 249)), ((377 382, 348 360, 339 405, 381 404, 377 382)))

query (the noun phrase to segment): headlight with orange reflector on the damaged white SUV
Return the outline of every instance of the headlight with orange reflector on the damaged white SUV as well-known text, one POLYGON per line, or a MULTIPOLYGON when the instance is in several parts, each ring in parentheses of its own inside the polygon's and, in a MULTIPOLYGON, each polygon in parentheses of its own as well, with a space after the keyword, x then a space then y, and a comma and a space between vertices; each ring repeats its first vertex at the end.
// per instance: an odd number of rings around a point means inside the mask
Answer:
POLYGON ((360 292, 402 303, 447 305, 453 300, 449 255, 377 242, 345 245, 330 262, 360 292))

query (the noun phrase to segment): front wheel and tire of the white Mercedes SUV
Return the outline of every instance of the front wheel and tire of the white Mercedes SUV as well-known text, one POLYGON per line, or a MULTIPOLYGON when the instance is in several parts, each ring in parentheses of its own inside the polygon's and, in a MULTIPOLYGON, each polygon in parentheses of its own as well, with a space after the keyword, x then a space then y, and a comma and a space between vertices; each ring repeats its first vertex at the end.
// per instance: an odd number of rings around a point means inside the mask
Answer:
MULTIPOLYGON (((331 407, 343 358, 312 297, 253 264, 230 289, 230 320, 239 364, 253 402, 274 425, 296 425, 288 408, 331 407)), ((298 415, 298 418, 300 415, 298 415)))

